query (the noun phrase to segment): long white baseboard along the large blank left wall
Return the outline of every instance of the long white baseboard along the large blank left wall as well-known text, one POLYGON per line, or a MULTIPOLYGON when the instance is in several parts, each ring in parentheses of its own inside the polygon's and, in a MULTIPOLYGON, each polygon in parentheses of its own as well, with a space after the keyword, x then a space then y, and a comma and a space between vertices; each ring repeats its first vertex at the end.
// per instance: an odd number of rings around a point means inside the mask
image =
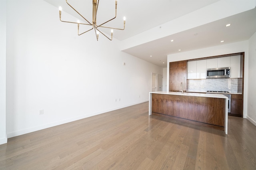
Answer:
MULTIPOLYGON (((40 126, 37 126, 37 127, 31 127, 31 128, 26 128, 26 129, 10 132, 10 133, 7 134, 7 138, 12 138, 14 136, 20 136, 22 134, 26 134, 26 133, 30 133, 30 132, 35 132, 35 131, 38 131, 38 130, 42 130, 42 129, 45 129, 45 128, 50 128, 50 127, 62 125, 62 124, 65 124, 65 123, 70 123, 70 122, 73 122, 73 121, 78 121, 80 119, 84 119, 84 118, 87 118, 87 117, 92 117, 92 116, 95 116, 95 115, 100 115, 102 113, 106 113, 106 112, 122 109, 124 107, 129 107, 129 106, 132 106, 132 105, 137 105, 137 104, 144 103, 144 102, 147 102, 147 101, 148 100, 140 101, 140 102, 137 102, 137 103, 131 103, 131 104, 128 104, 128 105, 124 105, 124 106, 120 106, 120 107, 115 107, 115 108, 112 108, 112 109, 106 109, 104 111, 90 113, 88 115, 83 115, 83 116, 74 117, 74 118, 71 118, 71 119, 66 119, 66 120, 62 120, 62 121, 58 121, 58 122, 49 123, 49 124, 46 124, 46 125, 40 125, 40 126)), ((7 138, 6 138, 6 142, 7 142, 7 138)), ((4 141, 5 140, 3 140, 3 142, 4 141)), ((0 144, 1 144, 1 139, 0 139, 0 144)))

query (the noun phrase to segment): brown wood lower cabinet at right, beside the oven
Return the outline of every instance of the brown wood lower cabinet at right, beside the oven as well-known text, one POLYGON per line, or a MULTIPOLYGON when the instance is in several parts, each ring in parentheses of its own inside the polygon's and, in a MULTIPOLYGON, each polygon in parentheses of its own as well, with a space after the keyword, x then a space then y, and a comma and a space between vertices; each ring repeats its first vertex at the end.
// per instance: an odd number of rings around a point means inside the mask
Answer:
POLYGON ((243 116, 243 97, 242 95, 231 94, 231 116, 243 116))

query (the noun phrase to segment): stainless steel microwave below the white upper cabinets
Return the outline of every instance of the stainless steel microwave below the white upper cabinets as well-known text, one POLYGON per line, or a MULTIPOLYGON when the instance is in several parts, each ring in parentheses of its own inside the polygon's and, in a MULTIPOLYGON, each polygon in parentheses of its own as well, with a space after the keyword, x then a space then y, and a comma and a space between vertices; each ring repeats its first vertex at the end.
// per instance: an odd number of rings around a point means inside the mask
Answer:
POLYGON ((206 78, 230 78, 230 67, 207 69, 206 78))

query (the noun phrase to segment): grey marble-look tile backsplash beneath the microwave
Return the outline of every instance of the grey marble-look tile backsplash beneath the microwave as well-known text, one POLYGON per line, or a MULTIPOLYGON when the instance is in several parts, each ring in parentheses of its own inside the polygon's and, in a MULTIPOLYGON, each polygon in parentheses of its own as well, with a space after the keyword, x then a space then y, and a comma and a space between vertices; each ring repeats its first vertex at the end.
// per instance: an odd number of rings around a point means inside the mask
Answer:
POLYGON ((238 93, 238 79, 189 79, 188 91, 228 91, 238 93))

